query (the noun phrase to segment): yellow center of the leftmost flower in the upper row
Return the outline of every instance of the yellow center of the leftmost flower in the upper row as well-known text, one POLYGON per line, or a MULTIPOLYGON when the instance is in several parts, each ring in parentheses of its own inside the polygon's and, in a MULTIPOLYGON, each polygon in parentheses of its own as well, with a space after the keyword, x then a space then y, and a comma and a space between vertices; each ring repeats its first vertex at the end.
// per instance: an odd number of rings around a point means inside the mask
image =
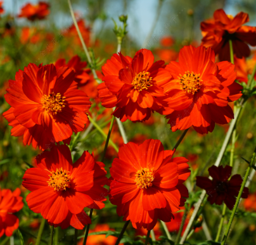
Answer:
POLYGON ((49 113, 56 115, 63 107, 65 107, 65 98, 61 97, 61 94, 55 94, 54 92, 48 96, 44 94, 42 96, 42 107, 49 113))

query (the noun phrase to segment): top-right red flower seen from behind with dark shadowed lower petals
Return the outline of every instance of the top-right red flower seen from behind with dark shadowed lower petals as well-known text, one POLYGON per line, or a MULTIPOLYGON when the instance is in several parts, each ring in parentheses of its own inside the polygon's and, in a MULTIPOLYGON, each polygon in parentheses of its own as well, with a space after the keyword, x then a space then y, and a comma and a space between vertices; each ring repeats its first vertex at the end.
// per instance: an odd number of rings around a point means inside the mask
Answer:
POLYGON ((229 40, 232 40, 233 51, 237 58, 248 57, 251 46, 256 46, 256 27, 243 25, 249 21, 246 13, 236 16, 226 15, 223 9, 214 12, 214 19, 201 23, 202 45, 212 47, 219 54, 221 61, 230 61, 229 40), (243 25, 243 26, 242 26, 243 25))

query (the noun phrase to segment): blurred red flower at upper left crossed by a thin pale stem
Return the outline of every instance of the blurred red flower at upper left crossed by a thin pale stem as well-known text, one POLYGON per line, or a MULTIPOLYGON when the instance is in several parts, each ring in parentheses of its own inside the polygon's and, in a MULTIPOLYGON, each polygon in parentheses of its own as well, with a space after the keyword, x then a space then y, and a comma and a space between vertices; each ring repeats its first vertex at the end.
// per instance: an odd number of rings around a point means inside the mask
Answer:
MULTIPOLYGON (((89 46, 90 38, 91 38, 91 28, 86 27, 86 23, 84 22, 84 20, 78 20, 77 25, 79 26, 79 30, 82 34, 82 38, 84 39, 84 42, 86 43, 87 46, 89 46)), ((74 24, 68 28, 65 28, 62 31, 62 33, 65 37, 72 38, 72 42, 74 45, 82 46, 79 36, 77 35, 77 30, 74 24)))

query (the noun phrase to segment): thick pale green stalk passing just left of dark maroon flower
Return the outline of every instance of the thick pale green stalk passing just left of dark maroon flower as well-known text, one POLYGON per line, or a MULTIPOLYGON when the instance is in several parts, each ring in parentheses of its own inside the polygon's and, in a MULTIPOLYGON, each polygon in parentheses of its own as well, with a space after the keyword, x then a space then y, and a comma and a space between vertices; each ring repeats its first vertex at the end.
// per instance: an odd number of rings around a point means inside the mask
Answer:
MULTIPOLYGON (((231 135, 233 133, 234 126, 236 125, 236 122, 238 120, 240 112, 241 112, 241 106, 237 108, 236 113, 234 114, 234 119, 230 123, 229 130, 227 131, 226 137, 225 137, 224 142, 223 142, 223 144, 221 146, 221 151, 219 152, 217 160, 215 161, 215 164, 214 164, 215 166, 219 166, 221 164, 221 160, 222 160, 222 158, 224 156, 224 153, 225 153, 225 151, 227 149, 227 144, 228 144, 229 140, 231 139, 231 135)), ((212 178, 209 177, 209 179, 212 179, 212 178)), ((193 211, 193 214, 191 215, 191 218, 189 219, 189 222, 188 222, 188 225, 186 227, 186 230, 184 231, 184 234, 181 237, 180 244, 183 244, 184 241, 186 241, 186 237, 189 234, 189 230, 191 229, 191 227, 192 227, 192 225, 193 225, 193 223, 195 221, 196 215, 197 215, 198 211, 200 210, 200 207, 202 206, 202 203, 203 203, 203 200, 205 199, 206 194, 207 194, 207 192, 205 190, 203 190, 202 194, 200 195, 200 198, 199 198, 198 202, 195 205, 195 209, 193 211)))

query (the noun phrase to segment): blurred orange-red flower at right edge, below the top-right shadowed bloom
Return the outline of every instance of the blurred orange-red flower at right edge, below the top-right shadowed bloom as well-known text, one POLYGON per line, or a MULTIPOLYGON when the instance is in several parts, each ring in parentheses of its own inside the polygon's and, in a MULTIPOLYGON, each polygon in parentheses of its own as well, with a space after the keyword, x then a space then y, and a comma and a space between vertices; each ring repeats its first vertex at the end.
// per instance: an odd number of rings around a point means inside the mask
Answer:
MULTIPOLYGON (((245 58, 238 59, 234 56, 234 65, 236 66, 236 79, 240 82, 248 82, 248 75, 252 74, 252 70, 256 64, 256 54, 252 59, 245 60, 245 58)), ((256 74, 254 75, 256 80, 256 74)))

